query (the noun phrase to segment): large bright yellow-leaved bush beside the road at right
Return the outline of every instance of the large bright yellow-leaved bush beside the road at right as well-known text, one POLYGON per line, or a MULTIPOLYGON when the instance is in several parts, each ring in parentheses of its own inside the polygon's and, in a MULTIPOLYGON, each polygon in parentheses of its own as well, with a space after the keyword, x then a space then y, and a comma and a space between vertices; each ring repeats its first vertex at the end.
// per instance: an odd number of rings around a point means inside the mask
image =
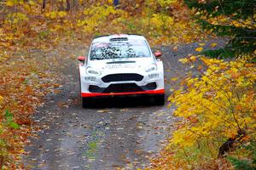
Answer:
POLYGON ((239 130, 255 139, 256 67, 247 67, 243 59, 225 62, 205 57, 189 58, 190 61, 195 59, 200 59, 207 69, 200 69, 201 78, 187 77, 183 82, 185 88, 174 91, 169 97, 177 106, 174 114, 183 117, 169 148, 180 148, 176 156, 183 150, 190 150, 187 154, 192 154, 193 159, 202 159, 203 155, 203 159, 209 161, 217 157, 219 145, 239 130), (195 152, 198 147, 204 148, 204 154, 195 152))

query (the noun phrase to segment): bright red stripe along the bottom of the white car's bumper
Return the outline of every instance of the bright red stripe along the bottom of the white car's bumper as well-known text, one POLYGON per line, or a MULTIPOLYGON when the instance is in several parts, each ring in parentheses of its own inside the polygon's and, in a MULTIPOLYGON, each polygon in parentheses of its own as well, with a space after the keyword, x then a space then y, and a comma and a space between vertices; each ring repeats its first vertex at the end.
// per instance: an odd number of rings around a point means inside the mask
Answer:
POLYGON ((83 98, 86 97, 96 97, 96 96, 114 96, 114 95, 132 95, 132 94, 165 94, 165 89, 159 90, 147 90, 143 92, 124 92, 124 93, 111 93, 111 94, 101 94, 101 93, 81 93, 83 98))

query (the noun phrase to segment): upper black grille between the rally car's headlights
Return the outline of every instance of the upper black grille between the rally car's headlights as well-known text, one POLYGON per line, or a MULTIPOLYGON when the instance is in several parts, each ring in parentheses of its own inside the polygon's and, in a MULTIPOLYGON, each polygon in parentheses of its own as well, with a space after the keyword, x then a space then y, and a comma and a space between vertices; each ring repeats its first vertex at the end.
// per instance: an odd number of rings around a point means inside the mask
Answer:
POLYGON ((142 81, 143 76, 135 73, 111 74, 102 77, 103 82, 142 81))

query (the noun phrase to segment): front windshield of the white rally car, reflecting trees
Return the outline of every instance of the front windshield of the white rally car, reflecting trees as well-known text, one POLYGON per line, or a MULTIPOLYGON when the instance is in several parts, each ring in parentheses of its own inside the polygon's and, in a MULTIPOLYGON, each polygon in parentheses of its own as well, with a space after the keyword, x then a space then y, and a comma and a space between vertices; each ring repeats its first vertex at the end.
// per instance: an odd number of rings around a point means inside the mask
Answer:
POLYGON ((95 42, 90 48, 90 60, 141 57, 150 57, 148 45, 143 40, 95 42))

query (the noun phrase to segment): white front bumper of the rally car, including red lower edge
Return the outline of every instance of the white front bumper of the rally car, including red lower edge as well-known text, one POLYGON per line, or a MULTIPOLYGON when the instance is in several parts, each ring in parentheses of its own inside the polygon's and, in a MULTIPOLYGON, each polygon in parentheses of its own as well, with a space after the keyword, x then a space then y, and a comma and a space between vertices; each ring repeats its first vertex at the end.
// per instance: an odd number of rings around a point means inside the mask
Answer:
POLYGON ((83 98, 165 94, 162 69, 149 73, 144 71, 132 73, 131 70, 126 72, 125 70, 122 72, 113 71, 101 76, 91 76, 85 74, 85 71, 80 71, 80 73, 81 96, 83 98), (117 77, 116 74, 129 74, 129 77, 117 77), (134 77, 136 74, 142 75, 142 77, 134 77), (131 79, 129 79, 130 75, 131 79), (104 77, 108 77, 108 79, 104 77))

